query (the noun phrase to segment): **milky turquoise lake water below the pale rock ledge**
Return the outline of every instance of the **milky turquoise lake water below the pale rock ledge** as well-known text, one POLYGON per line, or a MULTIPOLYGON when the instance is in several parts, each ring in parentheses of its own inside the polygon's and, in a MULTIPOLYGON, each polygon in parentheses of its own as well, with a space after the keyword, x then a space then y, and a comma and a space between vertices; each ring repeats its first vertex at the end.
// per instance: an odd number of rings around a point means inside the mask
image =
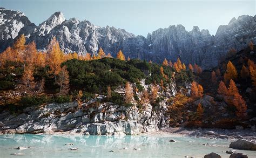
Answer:
MULTIPOLYGON (((21 157, 203 157, 215 152, 223 157, 230 141, 192 138, 172 135, 128 135, 128 136, 54 136, 11 134, 0 135, 0 157, 17 157, 12 153, 24 153, 21 157), (169 142, 174 139, 177 142, 169 142), (73 146, 65 146, 73 143, 73 146), (217 146, 203 146, 209 143, 217 146), (15 148, 30 147, 25 150, 15 148), (72 151, 70 148, 78 148, 72 151), (126 147, 127 149, 124 149, 126 147), (141 150, 134 150, 140 148, 141 150), (110 152, 114 150, 116 152, 110 152)), ((237 150, 256 157, 256 152, 237 150)), ((20 157, 20 156, 18 156, 20 157)))

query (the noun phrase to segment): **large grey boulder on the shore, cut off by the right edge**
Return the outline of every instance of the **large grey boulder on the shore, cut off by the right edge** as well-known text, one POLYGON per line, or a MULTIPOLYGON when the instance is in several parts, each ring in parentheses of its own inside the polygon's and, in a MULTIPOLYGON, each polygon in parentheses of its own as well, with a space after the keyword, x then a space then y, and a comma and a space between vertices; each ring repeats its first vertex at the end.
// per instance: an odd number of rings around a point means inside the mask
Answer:
POLYGON ((230 148, 240 150, 256 150, 256 143, 244 139, 238 139, 230 143, 230 148))

